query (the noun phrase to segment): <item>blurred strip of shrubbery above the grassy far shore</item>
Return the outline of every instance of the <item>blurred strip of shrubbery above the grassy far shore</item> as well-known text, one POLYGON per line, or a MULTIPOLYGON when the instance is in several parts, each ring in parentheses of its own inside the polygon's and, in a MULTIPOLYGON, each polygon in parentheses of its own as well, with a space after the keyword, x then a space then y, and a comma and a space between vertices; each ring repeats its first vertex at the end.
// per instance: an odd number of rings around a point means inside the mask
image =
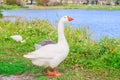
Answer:
MULTIPOLYGON (((120 0, 4 0, 4 3, 10 5, 37 4, 42 6, 55 6, 56 3, 84 4, 84 5, 120 5, 120 0)), ((59 5, 56 4, 56 5, 59 5)))

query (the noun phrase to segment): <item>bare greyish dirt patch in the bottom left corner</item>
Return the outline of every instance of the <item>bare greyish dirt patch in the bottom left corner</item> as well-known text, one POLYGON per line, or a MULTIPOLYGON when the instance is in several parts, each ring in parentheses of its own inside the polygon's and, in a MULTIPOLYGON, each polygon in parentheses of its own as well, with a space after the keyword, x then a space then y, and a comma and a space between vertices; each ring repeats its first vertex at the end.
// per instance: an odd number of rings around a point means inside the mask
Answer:
POLYGON ((34 80, 34 77, 23 75, 11 75, 11 76, 0 75, 0 80, 34 80))

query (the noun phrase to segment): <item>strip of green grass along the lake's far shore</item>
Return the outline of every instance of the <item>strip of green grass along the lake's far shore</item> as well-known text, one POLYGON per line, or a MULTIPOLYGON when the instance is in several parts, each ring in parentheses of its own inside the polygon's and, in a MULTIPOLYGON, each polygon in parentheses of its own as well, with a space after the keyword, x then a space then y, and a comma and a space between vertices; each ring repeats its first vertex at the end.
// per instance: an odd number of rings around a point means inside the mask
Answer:
POLYGON ((16 10, 16 9, 81 9, 81 10, 120 10, 120 5, 81 5, 81 4, 62 4, 58 6, 37 6, 37 5, 0 5, 3 10, 16 10))

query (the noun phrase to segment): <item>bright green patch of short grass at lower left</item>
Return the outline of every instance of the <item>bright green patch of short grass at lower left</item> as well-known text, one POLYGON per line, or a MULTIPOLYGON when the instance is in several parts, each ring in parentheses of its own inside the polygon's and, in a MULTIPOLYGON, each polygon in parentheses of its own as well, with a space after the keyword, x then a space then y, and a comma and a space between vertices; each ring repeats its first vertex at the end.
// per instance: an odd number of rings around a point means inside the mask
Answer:
MULTIPOLYGON (((13 59, 15 61, 15 59, 13 59)), ((19 59, 18 59, 19 60, 19 59)), ((20 74, 29 70, 29 67, 25 67, 27 64, 24 62, 0 62, 0 74, 2 75, 10 75, 10 74, 20 74)))

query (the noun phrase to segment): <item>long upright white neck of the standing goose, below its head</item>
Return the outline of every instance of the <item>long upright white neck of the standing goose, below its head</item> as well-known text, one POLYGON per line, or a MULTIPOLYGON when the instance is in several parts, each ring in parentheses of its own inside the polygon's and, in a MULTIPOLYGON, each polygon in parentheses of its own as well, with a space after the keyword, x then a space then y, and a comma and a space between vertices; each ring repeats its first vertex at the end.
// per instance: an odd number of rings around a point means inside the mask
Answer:
POLYGON ((64 23, 61 20, 58 23, 58 43, 67 45, 67 41, 64 35, 64 23))

